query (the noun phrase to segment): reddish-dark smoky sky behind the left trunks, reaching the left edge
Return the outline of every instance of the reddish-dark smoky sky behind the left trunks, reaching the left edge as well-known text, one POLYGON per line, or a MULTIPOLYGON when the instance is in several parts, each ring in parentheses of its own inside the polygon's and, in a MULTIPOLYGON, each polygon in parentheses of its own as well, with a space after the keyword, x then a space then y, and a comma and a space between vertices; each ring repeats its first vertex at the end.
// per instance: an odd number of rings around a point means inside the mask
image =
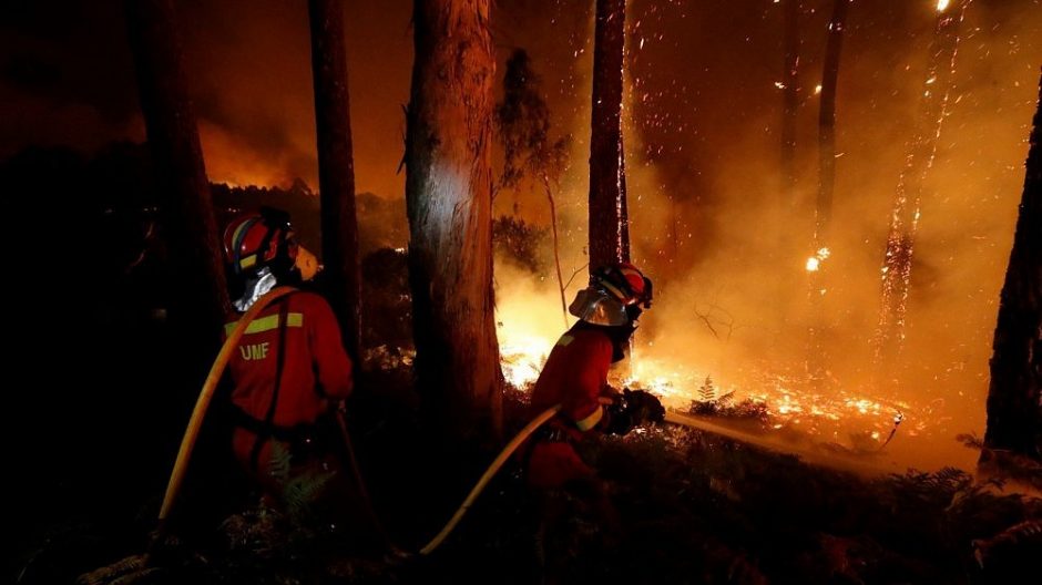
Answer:
MULTIPOLYGON (((346 2, 356 186, 403 195, 411 2, 346 2)), ((177 2, 184 66, 211 181, 317 188, 307 2, 177 2)), ((0 8, 0 156, 144 141, 120 2, 0 8)))

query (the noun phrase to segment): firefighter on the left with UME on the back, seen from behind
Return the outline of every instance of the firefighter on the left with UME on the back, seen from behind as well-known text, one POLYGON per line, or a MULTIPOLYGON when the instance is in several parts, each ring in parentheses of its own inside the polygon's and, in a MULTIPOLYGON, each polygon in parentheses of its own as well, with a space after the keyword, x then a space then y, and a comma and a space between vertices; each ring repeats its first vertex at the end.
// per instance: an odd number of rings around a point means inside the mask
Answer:
MULTIPOLYGON (((300 286, 320 268, 294 237, 289 215, 276 209, 234 219, 224 252, 239 315, 276 286, 300 286)), ((229 373, 232 449, 265 501, 327 527, 353 522, 357 499, 333 419, 351 392, 351 361, 329 304, 308 290, 273 301, 247 326, 229 373)))

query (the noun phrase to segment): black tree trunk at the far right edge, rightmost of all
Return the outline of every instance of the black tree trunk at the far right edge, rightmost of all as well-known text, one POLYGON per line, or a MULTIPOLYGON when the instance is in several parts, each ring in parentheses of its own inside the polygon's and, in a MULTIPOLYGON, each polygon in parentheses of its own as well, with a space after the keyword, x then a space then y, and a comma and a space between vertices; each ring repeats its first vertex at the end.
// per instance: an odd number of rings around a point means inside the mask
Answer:
POLYGON ((1042 80, 1026 166, 992 345, 984 447, 1042 463, 1042 80))

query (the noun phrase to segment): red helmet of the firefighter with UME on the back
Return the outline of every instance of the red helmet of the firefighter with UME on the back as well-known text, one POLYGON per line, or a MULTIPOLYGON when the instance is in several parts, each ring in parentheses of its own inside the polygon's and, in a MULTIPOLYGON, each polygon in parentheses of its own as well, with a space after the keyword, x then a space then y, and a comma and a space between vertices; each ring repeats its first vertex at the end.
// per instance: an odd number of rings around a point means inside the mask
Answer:
POLYGON ((262 208, 232 220, 224 230, 224 255, 235 274, 248 274, 278 259, 293 266, 297 256, 289 214, 262 208))

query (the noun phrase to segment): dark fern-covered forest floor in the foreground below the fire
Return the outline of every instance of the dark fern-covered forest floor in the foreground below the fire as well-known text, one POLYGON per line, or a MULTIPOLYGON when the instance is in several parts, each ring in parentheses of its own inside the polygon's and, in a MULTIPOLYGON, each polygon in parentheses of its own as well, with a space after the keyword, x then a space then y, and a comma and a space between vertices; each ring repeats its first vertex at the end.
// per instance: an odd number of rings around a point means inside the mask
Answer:
MULTIPOLYGON (((351 403, 355 448, 387 532, 416 550, 496 450, 431 444, 416 423, 406 374, 376 376, 382 378, 369 387, 381 393, 362 391, 351 403)), ((527 422, 523 394, 512 392, 508 407, 515 431, 527 422)), ((164 463, 151 481, 84 491, 68 503, 73 514, 50 506, 50 514, 33 515, 13 550, 17 581, 1038 583, 1042 500, 1000 481, 954 469, 856 475, 673 425, 606 437, 583 450, 610 486, 621 533, 580 500, 562 497, 568 521, 548 535, 544 562, 534 537, 539 512, 518 465, 509 464, 445 544, 422 557, 360 552, 303 515, 228 496, 237 483, 227 478, 197 479, 178 504, 184 522, 142 569, 134 555, 154 528, 164 463), (126 561, 106 573, 119 560, 126 561)))

